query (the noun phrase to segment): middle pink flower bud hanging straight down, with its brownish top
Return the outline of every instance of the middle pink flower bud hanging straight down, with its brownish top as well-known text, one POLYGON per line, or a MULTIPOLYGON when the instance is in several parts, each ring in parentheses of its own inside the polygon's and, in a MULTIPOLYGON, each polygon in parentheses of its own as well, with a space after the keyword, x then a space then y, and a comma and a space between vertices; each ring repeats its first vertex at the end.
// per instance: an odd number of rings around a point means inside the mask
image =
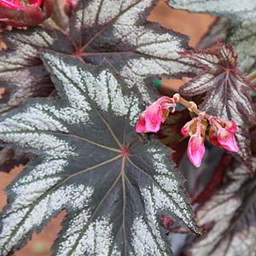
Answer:
POLYGON ((207 129, 207 122, 200 117, 189 121, 182 128, 183 136, 189 138, 189 145, 187 153, 190 162, 195 166, 201 166, 201 160, 205 154, 205 131, 207 129))

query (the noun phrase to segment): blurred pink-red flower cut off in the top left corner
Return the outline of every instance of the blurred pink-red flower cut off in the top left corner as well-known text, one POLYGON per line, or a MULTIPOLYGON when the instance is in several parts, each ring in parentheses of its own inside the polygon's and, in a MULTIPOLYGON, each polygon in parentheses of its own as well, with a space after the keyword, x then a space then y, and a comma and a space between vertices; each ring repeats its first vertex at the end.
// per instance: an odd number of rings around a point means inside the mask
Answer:
POLYGON ((53 0, 0 0, 0 23, 10 26, 34 26, 53 12, 53 0))

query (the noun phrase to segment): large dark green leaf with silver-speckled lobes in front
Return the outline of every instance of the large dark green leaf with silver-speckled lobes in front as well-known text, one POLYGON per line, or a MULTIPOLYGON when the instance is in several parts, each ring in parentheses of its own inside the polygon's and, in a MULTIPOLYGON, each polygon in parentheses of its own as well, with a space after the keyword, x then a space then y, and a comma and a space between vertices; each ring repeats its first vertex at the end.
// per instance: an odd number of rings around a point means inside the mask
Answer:
POLYGON ((62 209, 53 255, 170 255, 161 214, 200 232, 170 160, 138 136, 137 92, 101 67, 44 52, 60 100, 33 100, 0 122, 0 139, 38 154, 7 189, 1 255, 26 244, 62 209))

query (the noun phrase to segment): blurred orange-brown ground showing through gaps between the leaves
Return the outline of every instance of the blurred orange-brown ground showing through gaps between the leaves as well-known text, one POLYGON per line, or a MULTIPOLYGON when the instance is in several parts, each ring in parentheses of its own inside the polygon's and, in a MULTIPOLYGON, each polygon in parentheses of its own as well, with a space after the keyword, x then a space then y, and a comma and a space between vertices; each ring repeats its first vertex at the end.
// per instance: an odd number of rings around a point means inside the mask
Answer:
MULTIPOLYGON (((149 21, 159 22, 161 26, 172 28, 176 32, 181 32, 189 36, 189 45, 196 47, 203 38, 209 27, 215 22, 211 15, 189 14, 187 11, 179 11, 170 8, 165 0, 160 0, 148 17, 149 21)), ((182 80, 172 79, 172 89, 177 90, 183 84, 182 80)), ((4 188, 22 172, 23 166, 18 166, 10 173, 0 172, 0 209, 6 204, 4 188)), ((65 212, 61 212, 57 218, 53 218, 44 230, 32 236, 26 247, 23 247, 15 256, 50 256, 50 247, 61 230, 61 220, 65 212)))

